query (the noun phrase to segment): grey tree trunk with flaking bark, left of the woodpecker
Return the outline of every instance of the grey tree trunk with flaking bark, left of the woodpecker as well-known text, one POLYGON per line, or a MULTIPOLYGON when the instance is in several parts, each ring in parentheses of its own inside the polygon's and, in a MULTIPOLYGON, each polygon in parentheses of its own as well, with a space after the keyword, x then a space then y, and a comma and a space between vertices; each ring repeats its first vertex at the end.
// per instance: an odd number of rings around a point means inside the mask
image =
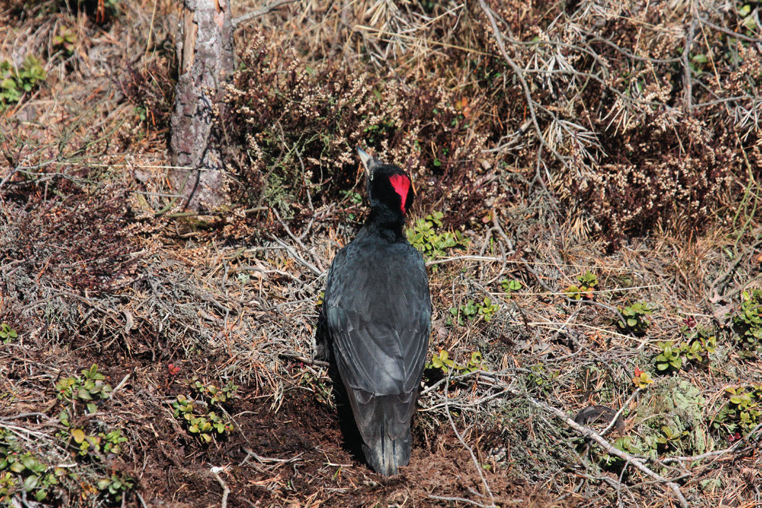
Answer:
POLYGON ((232 75, 229 0, 185 0, 178 38, 179 73, 171 118, 170 183, 192 210, 227 201, 216 118, 223 114, 223 82, 232 75))

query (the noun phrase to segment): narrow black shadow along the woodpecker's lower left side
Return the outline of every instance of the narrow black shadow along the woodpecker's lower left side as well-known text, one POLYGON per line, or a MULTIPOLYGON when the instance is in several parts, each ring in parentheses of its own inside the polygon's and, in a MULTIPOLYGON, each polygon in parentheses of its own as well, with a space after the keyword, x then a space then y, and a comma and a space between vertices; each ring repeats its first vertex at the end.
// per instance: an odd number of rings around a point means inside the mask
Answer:
POLYGON ((328 326, 322 316, 318 318, 317 326, 315 326, 315 345, 317 346, 315 358, 329 364, 328 377, 331 378, 331 395, 334 397, 339 430, 341 430, 341 447, 351 453, 354 460, 367 464, 363 453, 363 437, 360 436, 360 430, 357 429, 357 423, 354 422, 354 413, 352 413, 352 407, 349 404, 347 390, 344 387, 344 382, 341 381, 341 375, 338 373, 333 355, 328 326))

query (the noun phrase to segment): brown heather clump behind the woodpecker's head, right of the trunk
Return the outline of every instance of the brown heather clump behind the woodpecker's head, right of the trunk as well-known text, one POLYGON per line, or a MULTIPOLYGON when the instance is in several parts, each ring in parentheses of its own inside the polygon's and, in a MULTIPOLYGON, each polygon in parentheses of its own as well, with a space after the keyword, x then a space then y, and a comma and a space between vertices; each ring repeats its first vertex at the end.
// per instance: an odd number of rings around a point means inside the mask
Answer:
MULTIPOLYGON (((462 179, 463 169, 475 166, 480 145, 463 137, 464 103, 454 92, 349 72, 330 61, 307 66, 293 51, 254 37, 229 88, 248 159, 237 169, 245 184, 233 189, 239 200, 287 217, 309 213, 315 201, 344 202, 360 183, 358 145, 414 181, 424 174, 462 179)), ((474 207, 481 197, 462 193, 458 201, 474 207)))

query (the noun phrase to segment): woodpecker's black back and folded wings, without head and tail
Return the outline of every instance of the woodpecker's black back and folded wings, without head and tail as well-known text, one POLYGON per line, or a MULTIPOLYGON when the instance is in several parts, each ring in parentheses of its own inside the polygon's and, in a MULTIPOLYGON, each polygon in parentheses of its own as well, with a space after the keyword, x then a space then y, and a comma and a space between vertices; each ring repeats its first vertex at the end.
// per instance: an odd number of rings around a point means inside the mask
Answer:
POLYGON ((423 258, 407 240, 379 243, 361 231, 336 254, 324 302, 344 384, 378 395, 418 386, 431 300, 423 258))

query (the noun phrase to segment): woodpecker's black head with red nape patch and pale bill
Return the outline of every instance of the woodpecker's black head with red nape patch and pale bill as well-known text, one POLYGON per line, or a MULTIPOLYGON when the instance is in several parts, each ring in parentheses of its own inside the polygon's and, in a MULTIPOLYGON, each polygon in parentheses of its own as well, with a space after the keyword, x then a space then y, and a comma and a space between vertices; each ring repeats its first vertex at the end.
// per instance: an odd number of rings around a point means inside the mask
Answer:
POLYGON ((365 167, 370 208, 392 220, 402 220, 410 210, 415 191, 408 174, 399 166, 384 164, 357 146, 365 167))

